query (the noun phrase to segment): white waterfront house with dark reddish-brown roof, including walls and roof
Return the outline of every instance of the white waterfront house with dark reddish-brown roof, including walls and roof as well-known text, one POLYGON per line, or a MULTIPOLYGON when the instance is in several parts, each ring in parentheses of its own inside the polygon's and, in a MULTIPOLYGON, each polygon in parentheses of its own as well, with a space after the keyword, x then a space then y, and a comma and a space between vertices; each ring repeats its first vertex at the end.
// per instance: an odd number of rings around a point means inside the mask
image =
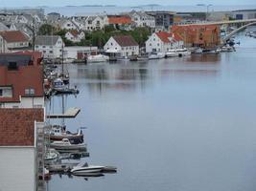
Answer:
POLYGON ((108 39, 104 46, 105 53, 115 53, 126 57, 139 54, 138 43, 129 35, 117 35, 108 39))

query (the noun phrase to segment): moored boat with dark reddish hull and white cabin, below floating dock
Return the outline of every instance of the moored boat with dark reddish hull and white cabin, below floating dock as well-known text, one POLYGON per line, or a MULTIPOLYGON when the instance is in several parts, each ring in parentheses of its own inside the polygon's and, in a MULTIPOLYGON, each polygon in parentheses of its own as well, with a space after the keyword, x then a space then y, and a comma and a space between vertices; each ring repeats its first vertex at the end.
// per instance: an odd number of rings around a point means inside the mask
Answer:
POLYGON ((50 130, 50 140, 62 140, 63 138, 68 138, 72 143, 82 143, 83 134, 81 129, 78 130, 78 133, 71 133, 65 130, 65 126, 54 125, 50 130))

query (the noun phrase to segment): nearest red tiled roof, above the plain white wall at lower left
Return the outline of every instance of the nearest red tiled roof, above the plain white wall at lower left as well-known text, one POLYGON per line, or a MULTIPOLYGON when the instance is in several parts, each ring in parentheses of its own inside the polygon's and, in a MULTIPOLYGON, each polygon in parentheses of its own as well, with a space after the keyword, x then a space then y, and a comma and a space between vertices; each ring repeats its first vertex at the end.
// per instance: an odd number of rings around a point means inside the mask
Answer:
POLYGON ((35 121, 44 121, 42 108, 0 108, 0 146, 34 146, 35 121))

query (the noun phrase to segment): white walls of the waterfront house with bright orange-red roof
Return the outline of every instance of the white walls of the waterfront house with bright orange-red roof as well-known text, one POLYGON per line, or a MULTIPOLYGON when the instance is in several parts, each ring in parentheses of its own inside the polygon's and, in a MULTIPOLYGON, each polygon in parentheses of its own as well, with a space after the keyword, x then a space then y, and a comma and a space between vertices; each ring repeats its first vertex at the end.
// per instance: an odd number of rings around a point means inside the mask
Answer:
POLYGON ((169 42, 163 42, 161 38, 154 32, 146 41, 146 53, 167 53, 169 50, 182 48, 183 41, 175 41, 173 37, 169 38, 169 42))

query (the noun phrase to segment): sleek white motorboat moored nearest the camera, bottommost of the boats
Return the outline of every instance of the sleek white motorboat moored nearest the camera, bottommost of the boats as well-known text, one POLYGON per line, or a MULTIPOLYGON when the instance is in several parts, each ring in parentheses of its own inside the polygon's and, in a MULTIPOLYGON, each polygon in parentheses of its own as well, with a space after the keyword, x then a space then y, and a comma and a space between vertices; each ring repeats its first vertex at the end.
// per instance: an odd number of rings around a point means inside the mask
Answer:
POLYGON ((86 175, 90 173, 99 173, 105 166, 88 165, 87 162, 75 166, 70 172, 74 175, 86 175))

